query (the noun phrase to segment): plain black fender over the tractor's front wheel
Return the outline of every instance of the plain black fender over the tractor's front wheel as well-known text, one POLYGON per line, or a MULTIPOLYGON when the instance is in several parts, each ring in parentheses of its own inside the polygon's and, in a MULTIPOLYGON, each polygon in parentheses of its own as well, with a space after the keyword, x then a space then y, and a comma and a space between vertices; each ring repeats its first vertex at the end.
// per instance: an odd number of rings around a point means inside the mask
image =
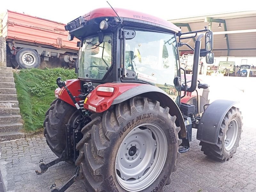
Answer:
POLYGON ((230 100, 213 101, 200 119, 196 139, 213 145, 217 144, 221 123, 228 110, 236 104, 236 101, 230 100))

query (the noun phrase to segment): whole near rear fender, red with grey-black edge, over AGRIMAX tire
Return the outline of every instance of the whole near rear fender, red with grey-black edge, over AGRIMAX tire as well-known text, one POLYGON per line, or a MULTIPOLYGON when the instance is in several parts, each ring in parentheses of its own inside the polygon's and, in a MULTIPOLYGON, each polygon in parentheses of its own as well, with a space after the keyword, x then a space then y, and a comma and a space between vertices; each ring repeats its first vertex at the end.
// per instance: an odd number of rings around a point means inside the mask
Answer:
MULTIPOLYGON (((180 108, 177 104, 165 93, 162 89, 148 85, 136 83, 106 83, 97 86, 85 99, 84 108, 94 112, 101 113, 108 110, 111 105, 116 105, 135 96, 148 97, 152 100, 157 100, 160 105, 169 107, 171 116, 176 116, 181 128, 181 137, 186 137, 186 127, 180 108), (97 95, 99 86, 114 87, 112 96, 97 95)), ((176 121, 177 121, 176 120, 176 121)))

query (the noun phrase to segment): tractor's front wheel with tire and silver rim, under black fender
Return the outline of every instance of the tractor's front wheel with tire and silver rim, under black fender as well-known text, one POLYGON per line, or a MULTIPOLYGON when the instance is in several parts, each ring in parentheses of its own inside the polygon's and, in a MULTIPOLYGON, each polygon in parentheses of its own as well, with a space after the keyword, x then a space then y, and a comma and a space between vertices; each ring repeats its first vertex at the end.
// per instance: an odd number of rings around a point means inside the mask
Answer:
POLYGON ((228 161, 236 153, 236 148, 239 146, 242 132, 242 117, 238 108, 232 107, 224 117, 218 143, 212 145, 201 141, 201 151, 207 156, 216 157, 222 161, 228 161))

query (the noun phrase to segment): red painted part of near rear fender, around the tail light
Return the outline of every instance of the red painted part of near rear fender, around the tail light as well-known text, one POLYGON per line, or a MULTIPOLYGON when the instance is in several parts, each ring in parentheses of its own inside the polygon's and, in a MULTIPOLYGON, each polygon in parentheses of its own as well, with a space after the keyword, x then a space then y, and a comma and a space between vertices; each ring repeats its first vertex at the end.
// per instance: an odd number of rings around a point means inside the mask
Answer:
MULTIPOLYGON (((84 104, 84 108, 94 111, 94 112, 103 112, 106 111, 112 104, 113 100, 116 99, 119 95, 121 95, 123 92, 136 87, 140 85, 145 84, 138 84, 138 83, 106 83, 106 84, 100 84, 99 86, 105 86, 105 87, 114 87, 114 93, 112 96, 99 96, 97 95, 97 87, 87 96, 87 100, 84 104), (89 105, 93 108, 96 108, 95 110, 92 110, 92 108, 89 108, 89 105)), ((98 87, 99 87, 98 86, 98 87)), ((152 86, 152 85, 148 85, 152 86)))

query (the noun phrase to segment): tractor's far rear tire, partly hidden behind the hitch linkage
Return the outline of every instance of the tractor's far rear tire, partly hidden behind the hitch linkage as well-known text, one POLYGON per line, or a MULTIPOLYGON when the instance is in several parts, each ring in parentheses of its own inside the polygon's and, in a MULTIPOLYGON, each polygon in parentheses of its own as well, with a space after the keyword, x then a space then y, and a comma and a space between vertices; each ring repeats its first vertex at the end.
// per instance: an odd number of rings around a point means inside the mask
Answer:
POLYGON ((45 114, 44 137, 52 152, 58 157, 66 148, 66 124, 76 111, 75 107, 56 99, 45 114))

